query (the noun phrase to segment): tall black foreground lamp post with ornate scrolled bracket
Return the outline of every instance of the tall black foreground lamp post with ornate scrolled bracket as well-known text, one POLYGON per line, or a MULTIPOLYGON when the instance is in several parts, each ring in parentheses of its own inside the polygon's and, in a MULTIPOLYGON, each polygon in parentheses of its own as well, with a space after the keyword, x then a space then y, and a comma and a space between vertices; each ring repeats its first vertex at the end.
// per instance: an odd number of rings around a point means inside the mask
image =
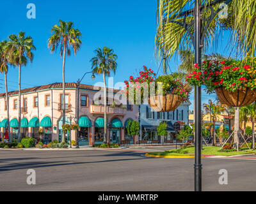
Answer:
MULTIPOLYGON (((202 61, 202 48, 204 47, 204 38, 211 21, 214 17, 221 11, 222 8, 218 8, 214 11, 212 6, 225 3, 228 4, 232 0, 212 0, 211 3, 207 5, 202 5, 201 0, 195 0, 195 8, 181 12, 173 16, 173 20, 169 20, 170 23, 178 24, 188 32, 190 40, 193 43, 195 50, 195 63, 201 66, 202 61), (207 18, 201 17, 201 12, 205 8, 211 10, 211 15, 207 18), (186 18, 188 15, 193 15, 194 20, 189 24, 186 23, 186 18), (183 17, 183 22, 180 22, 180 17, 183 17), (206 22, 204 31, 202 32, 202 21, 206 22), (191 32, 191 26, 194 24, 194 35, 191 32)), ((202 164, 201 164, 201 140, 202 140, 202 122, 201 122, 201 87, 195 87, 195 191, 202 191, 202 164)))

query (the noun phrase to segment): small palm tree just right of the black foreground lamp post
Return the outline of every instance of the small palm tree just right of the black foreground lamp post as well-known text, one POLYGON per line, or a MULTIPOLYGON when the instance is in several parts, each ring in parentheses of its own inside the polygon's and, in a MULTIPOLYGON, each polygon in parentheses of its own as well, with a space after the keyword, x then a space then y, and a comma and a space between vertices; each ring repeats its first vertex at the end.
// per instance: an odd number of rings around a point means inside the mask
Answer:
POLYGON ((213 141, 212 146, 216 146, 216 132, 215 132, 215 124, 218 115, 220 115, 221 112, 223 112, 223 107, 221 106, 221 103, 218 102, 217 104, 212 103, 212 101, 209 101, 209 104, 204 103, 203 108, 205 110, 205 113, 211 114, 212 117, 212 124, 213 124, 213 141))

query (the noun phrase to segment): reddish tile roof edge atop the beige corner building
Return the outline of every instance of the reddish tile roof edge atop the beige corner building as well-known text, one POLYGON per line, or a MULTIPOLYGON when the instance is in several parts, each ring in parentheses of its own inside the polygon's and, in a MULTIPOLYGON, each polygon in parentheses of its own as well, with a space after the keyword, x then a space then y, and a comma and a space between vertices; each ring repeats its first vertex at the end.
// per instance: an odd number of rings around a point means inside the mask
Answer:
MULTIPOLYGON (((76 89, 77 85, 76 83, 65 83, 65 87, 66 88, 72 88, 72 89, 76 89)), ((60 89, 62 88, 62 83, 53 83, 53 84, 47 84, 47 85, 40 85, 38 87, 32 87, 32 88, 28 88, 28 89, 22 89, 20 90, 21 94, 27 93, 27 92, 34 92, 34 91, 42 91, 44 89, 60 89)), ((80 89, 88 89, 88 90, 95 90, 95 91, 100 91, 100 89, 104 89, 104 87, 97 87, 97 86, 93 86, 93 85, 86 85, 86 84, 80 84, 80 89)), ((107 91, 109 90, 109 88, 107 88, 107 91)), ((113 89, 113 92, 118 92, 120 91, 119 89, 113 89)), ((8 92, 8 96, 12 96, 15 94, 19 94, 19 91, 10 91, 8 92)), ((1 93, 0 97, 4 97, 5 93, 1 93)))

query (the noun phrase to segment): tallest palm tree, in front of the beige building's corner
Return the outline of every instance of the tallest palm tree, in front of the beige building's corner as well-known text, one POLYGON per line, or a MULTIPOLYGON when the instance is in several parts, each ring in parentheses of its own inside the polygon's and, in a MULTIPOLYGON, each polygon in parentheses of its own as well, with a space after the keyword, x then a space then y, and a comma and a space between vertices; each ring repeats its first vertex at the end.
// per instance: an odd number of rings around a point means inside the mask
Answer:
MULTIPOLYGON (((70 56, 70 48, 76 55, 77 50, 81 47, 82 41, 80 40, 81 33, 78 29, 74 29, 73 22, 65 22, 60 20, 60 25, 53 25, 51 29, 52 36, 48 40, 48 47, 51 52, 57 52, 60 47, 60 56, 63 57, 62 62, 62 103, 63 108, 63 124, 65 124, 66 104, 65 104, 65 61, 66 54, 70 56)), ((65 133, 62 132, 62 142, 65 142, 65 133)))

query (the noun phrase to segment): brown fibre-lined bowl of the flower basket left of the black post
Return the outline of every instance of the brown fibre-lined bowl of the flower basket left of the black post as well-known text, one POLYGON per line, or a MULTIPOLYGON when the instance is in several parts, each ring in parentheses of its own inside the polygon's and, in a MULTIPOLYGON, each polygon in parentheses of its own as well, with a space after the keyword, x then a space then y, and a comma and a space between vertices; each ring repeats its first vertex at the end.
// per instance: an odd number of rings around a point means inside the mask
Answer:
POLYGON ((148 99, 148 104, 156 112, 171 112, 179 107, 183 98, 176 94, 166 94, 151 96, 148 99))

